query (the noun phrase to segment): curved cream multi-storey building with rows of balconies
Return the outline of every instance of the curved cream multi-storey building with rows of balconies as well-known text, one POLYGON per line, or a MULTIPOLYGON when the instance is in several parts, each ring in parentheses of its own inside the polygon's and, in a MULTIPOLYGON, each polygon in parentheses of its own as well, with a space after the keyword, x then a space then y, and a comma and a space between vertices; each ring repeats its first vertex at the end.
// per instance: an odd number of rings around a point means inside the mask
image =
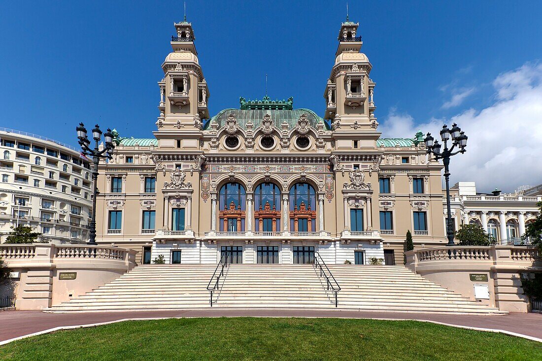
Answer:
POLYGON ((74 147, 0 128, 0 242, 17 224, 55 243, 88 240, 92 173, 74 147))

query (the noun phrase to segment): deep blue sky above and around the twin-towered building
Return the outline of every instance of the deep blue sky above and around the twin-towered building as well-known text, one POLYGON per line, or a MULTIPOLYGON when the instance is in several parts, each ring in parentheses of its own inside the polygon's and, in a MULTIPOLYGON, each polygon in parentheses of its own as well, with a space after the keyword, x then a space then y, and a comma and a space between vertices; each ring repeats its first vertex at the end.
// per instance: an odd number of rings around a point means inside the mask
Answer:
MULTIPOLYGON (((411 137, 417 127, 436 131, 436 124, 463 117, 460 126, 474 143, 469 123, 480 123, 485 109, 539 88, 542 2, 357 1, 349 7, 373 65, 383 137, 411 137), (509 99, 501 96, 503 88, 517 92, 509 99)), ((188 1, 186 8, 211 114, 237 107, 239 96, 261 97, 266 73, 270 96, 293 96, 295 107, 323 114, 344 1, 188 1)), ((171 50, 173 22, 182 18, 181 1, 5 2, 0 125, 74 145, 79 121, 116 127, 122 136, 150 137, 160 65, 171 50)), ((535 119, 539 109, 531 105, 525 116, 535 119)), ((521 121, 506 114, 502 119, 521 121)), ((526 135, 542 140, 538 133, 526 135)), ((493 154, 500 147, 497 140, 483 146, 494 147, 493 154)), ((498 163, 491 157, 477 162, 460 175, 484 169, 491 175, 488 164, 498 163)), ((481 190, 542 183, 542 169, 501 183, 482 176, 461 180, 476 180, 481 190)))

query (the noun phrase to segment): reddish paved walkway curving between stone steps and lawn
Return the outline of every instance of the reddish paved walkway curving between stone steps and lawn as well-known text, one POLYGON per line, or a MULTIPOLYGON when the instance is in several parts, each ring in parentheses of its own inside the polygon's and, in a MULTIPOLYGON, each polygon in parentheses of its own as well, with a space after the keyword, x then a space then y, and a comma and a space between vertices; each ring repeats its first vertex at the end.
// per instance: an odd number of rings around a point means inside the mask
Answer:
MULTIPOLYGON (((0 345, 13 338, 57 327, 94 325, 122 319, 172 317, 340 317, 396 320, 425 320, 436 323, 502 331, 542 341, 542 314, 458 315, 398 312, 313 311, 313 310, 178 310, 140 312, 44 313, 41 311, 0 312, 0 345)), ((73 328, 73 327, 72 327, 73 328)))

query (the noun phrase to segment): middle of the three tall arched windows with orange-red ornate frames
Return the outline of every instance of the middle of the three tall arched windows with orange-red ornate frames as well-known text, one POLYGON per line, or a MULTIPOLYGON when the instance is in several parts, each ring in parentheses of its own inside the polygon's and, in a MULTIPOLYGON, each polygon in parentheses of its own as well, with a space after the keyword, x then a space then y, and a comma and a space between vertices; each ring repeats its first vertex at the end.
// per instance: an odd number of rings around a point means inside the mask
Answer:
POLYGON ((280 189, 273 183, 262 183, 254 191, 254 230, 280 231, 280 189))

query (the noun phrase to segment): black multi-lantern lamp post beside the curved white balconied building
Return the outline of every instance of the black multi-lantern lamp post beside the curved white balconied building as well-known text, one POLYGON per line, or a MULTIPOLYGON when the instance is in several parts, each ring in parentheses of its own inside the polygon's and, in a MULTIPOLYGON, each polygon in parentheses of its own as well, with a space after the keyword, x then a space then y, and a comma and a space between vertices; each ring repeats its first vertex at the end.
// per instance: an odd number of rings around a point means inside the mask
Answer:
POLYGON ((104 134, 105 147, 101 151, 98 149, 98 143, 100 142, 100 137, 102 134, 102 131, 100 130, 98 124, 96 124, 94 129, 92 130, 92 138, 94 138, 95 142, 94 149, 89 147, 91 141, 88 140, 85 125, 83 123, 79 123, 79 126, 76 128, 76 130, 77 139, 79 139, 79 145, 83 150, 82 154, 84 154, 85 156, 91 156, 92 162, 94 163, 94 169, 92 170, 92 179, 94 182, 94 188, 92 192, 92 215, 91 222, 89 223, 90 239, 88 241, 88 244, 94 246, 95 244, 98 244, 96 243, 96 195, 98 194, 98 163, 100 163, 100 158, 113 158, 111 156, 111 151, 115 148, 115 144, 113 143, 113 134, 111 133, 111 129, 107 128, 107 132, 105 132, 104 134))

